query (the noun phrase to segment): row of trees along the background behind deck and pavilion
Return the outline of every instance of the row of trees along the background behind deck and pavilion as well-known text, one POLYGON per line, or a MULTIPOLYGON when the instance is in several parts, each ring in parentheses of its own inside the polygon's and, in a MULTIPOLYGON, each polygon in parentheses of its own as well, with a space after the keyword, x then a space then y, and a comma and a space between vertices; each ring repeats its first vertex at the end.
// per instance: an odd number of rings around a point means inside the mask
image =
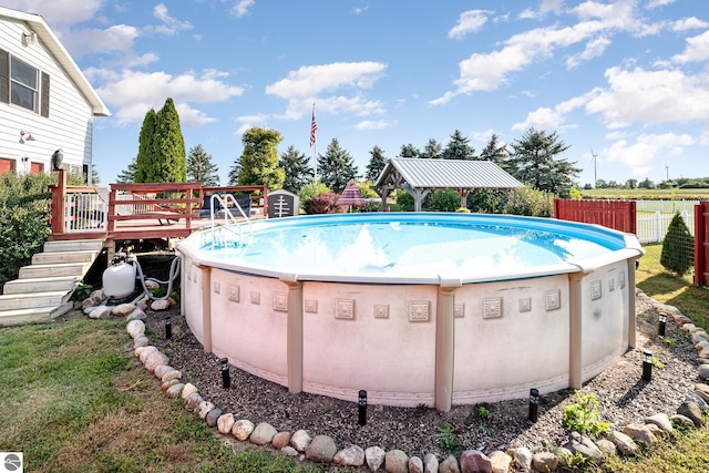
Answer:
MULTIPOLYGON (((228 185, 267 185, 297 193, 316 177, 309 158, 295 146, 278 154, 282 137, 275 130, 254 126, 244 133, 244 150, 228 173, 228 185)), ((476 154, 470 140, 455 130, 448 143, 430 138, 419 150, 401 146, 398 156, 411 158, 492 161, 531 188, 555 196, 569 197, 580 168, 562 155, 568 150, 556 132, 527 130, 521 138, 503 144, 493 134, 476 154)), ((350 179, 374 182, 387 164, 384 151, 374 145, 363 175, 351 154, 337 138, 317 156, 317 181, 340 193, 350 179)), ((163 109, 151 109, 143 121, 137 156, 121 172, 119 182, 204 182, 219 185, 218 167, 201 144, 187 153, 179 127, 179 116, 172 99, 163 109)))

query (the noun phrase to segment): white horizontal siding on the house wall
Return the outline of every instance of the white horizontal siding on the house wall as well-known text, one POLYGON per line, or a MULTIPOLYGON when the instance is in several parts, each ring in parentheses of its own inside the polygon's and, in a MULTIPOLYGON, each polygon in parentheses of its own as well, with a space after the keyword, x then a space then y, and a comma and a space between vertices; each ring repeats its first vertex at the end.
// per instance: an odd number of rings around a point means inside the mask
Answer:
POLYGON ((24 61, 40 71, 40 76, 50 78, 49 109, 40 104, 35 112, 0 102, 0 158, 16 160, 17 172, 30 172, 30 163, 44 164, 51 169, 52 153, 62 148, 65 166, 81 171, 91 169, 93 146, 93 113, 90 103, 60 66, 55 58, 40 40, 35 45, 24 45, 22 33, 31 31, 22 21, 0 16, 0 49, 24 61), (47 112, 49 116, 42 116, 47 112), (23 131, 24 143, 20 132, 23 131), (27 141, 31 133, 33 141, 27 141), (27 157, 28 160, 22 160, 27 157))

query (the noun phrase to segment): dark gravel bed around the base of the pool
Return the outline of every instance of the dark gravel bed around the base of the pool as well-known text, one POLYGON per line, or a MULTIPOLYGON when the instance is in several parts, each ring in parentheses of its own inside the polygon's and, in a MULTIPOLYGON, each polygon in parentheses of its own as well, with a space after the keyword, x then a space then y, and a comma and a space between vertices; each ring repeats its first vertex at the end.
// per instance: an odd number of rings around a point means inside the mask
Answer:
MULTIPOLYGON (((658 412, 672 414, 697 380, 697 352, 689 336, 668 317, 666 338, 657 336, 658 309, 644 294, 636 298, 637 349, 627 351, 616 363, 584 384, 580 392, 596 394, 598 407, 613 429, 641 421, 658 412), (665 364, 654 368, 651 382, 641 381, 641 350, 650 349, 665 364)), ((369 405, 367 425, 358 424, 357 402, 309 393, 290 394, 288 389, 245 371, 230 368, 232 387, 222 387, 218 359, 205 353, 191 333, 178 310, 171 309, 172 339, 164 338, 164 318, 168 312, 147 310, 146 326, 151 343, 169 357, 169 363, 183 372, 183 382, 195 384, 202 397, 237 419, 255 424, 268 422, 278 431, 307 430, 311 435, 331 436, 339 449, 379 445, 399 449, 423 457, 428 452, 448 456, 439 446, 440 429, 452 426, 463 449, 484 453, 526 446, 533 452, 551 450, 567 442, 562 426, 564 408, 576 402, 571 389, 541 397, 538 421, 527 420, 527 399, 455 405, 450 412, 428 408, 369 405), (484 407, 490 417, 482 418, 484 407)), ((356 401, 356 400, 353 400, 356 401)))

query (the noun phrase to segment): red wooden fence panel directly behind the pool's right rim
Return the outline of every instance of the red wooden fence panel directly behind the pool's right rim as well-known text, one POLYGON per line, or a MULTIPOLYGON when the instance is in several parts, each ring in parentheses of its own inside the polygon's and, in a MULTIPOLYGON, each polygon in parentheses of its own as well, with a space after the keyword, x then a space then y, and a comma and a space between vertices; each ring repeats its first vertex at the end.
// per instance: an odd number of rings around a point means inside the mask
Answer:
POLYGON ((554 218, 637 234, 635 200, 554 199, 554 218))

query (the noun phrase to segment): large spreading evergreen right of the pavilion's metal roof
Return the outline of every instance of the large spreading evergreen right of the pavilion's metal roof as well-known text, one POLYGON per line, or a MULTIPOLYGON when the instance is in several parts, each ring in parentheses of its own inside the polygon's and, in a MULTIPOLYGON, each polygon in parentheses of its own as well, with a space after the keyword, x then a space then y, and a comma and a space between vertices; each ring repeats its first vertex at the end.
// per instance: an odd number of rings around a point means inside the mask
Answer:
POLYGON ((575 163, 557 157, 568 150, 556 132, 547 134, 530 128, 522 140, 511 144, 512 152, 505 162, 505 171, 537 191, 567 198, 574 186, 574 177, 580 168, 575 163))

